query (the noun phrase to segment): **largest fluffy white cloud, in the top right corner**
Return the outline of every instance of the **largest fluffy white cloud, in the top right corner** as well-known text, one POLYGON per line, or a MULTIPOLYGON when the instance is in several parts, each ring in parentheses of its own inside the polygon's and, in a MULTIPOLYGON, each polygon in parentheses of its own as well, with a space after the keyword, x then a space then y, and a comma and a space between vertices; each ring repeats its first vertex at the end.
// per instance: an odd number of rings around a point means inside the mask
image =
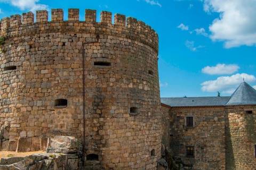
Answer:
POLYGON ((210 38, 225 42, 225 48, 256 45, 256 1, 203 0, 204 10, 220 17, 210 25, 210 38))

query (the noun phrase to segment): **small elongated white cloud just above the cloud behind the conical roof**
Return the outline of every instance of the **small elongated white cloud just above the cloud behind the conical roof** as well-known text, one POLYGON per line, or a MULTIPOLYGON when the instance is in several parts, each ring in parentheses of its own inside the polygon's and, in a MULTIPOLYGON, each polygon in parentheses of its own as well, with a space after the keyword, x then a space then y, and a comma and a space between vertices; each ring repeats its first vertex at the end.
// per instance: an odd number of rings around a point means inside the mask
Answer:
POLYGON ((236 72, 240 67, 236 64, 217 64, 216 66, 206 66, 202 69, 205 74, 232 74, 236 72))

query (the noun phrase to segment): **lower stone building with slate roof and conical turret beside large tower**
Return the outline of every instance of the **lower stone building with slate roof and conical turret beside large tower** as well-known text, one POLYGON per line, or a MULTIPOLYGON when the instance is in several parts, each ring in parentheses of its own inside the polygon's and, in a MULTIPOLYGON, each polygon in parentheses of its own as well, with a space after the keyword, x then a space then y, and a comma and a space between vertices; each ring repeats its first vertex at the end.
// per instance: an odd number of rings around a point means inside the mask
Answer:
POLYGON ((246 82, 231 97, 161 98, 163 142, 193 169, 255 169, 256 90, 246 82))

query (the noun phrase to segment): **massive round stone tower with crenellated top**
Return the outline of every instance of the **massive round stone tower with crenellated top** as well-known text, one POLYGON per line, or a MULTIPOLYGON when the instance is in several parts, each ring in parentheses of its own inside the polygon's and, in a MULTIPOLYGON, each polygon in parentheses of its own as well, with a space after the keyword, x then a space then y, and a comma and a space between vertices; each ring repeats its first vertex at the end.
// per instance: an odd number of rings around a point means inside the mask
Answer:
MULTIPOLYGON (((2 150, 76 137, 106 169, 155 169, 161 157, 158 36, 125 15, 53 9, 1 21, 2 150)), ((85 162, 86 162, 85 161, 85 162)))

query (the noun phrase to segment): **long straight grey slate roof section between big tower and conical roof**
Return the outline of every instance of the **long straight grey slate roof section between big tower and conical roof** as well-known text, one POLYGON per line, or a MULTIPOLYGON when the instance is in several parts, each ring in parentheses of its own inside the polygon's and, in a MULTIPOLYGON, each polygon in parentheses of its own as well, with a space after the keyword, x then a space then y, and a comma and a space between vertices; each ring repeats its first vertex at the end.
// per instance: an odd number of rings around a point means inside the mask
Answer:
POLYGON ((161 103, 172 107, 179 106, 224 106, 230 96, 225 97, 171 97, 161 98, 161 103))

